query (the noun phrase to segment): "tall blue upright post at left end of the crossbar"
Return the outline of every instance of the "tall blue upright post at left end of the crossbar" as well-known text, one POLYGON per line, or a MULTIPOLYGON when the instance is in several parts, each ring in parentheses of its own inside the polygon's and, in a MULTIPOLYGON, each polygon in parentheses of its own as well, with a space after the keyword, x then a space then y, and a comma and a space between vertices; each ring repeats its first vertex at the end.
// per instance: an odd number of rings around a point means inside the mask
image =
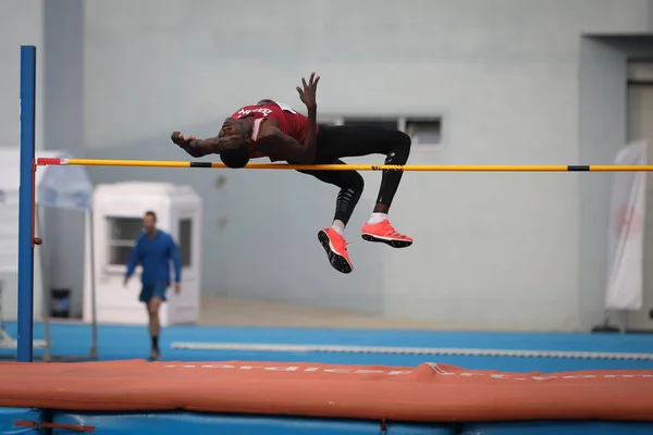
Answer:
POLYGON ((34 158, 36 47, 21 46, 21 188, 19 191, 19 362, 32 362, 34 328, 34 158))

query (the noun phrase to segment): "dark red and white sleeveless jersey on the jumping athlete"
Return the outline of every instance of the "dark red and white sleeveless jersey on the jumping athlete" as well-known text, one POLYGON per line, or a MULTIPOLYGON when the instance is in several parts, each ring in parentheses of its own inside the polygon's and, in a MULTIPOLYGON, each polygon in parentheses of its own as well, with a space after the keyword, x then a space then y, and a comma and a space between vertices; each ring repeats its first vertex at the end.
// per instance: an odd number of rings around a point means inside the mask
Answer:
POLYGON ((304 140, 306 140, 308 116, 303 115, 287 104, 272 100, 261 100, 256 105, 245 105, 244 108, 238 109, 238 111, 232 115, 234 120, 242 120, 247 116, 254 116, 254 128, 249 142, 250 157, 252 159, 269 157, 272 161, 282 160, 268 152, 256 150, 256 141, 259 137, 261 124, 266 120, 276 121, 279 129, 300 144, 304 144, 304 140))

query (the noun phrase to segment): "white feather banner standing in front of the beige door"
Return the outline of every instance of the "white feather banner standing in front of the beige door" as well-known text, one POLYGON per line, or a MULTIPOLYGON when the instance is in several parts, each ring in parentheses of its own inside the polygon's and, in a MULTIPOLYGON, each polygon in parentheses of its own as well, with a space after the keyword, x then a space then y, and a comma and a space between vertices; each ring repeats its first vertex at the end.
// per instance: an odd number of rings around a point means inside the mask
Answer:
MULTIPOLYGON (((624 147, 615 164, 648 164, 646 142, 624 147)), ((643 299, 646 172, 614 174, 605 307, 608 310, 639 310, 643 299)))

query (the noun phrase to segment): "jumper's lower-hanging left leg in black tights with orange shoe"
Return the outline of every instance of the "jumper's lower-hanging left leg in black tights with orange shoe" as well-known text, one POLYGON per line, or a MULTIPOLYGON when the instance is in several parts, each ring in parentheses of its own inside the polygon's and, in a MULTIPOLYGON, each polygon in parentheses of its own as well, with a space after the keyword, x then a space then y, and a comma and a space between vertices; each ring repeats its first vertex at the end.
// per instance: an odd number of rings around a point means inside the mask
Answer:
MULTIPOLYGON (((334 164, 344 164, 336 160, 334 164)), ((355 171, 299 171, 312 175, 323 183, 340 187, 335 201, 335 213, 330 227, 320 229, 318 239, 322 244, 331 265, 338 272, 350 273, 354 269, 344 231, 352 217, 352 213, 360 199, 365 183, 362 176, 355 171)))

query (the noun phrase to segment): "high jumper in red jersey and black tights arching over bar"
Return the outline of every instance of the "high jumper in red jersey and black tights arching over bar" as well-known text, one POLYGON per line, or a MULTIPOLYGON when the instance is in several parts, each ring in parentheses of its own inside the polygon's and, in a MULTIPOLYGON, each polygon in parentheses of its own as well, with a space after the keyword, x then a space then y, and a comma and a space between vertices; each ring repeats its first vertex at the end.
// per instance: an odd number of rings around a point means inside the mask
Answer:
MULTIPOLYGON (((384 154, 385 164, 406 164, 410 137, 401 130, 373 125, 318 125, 316 90, 319 80, 320 77, 312 73, 308 83, 303 78, 303 86, 297 87, 307 116, 283 103, 261 100, 227 117, 215 137, 198 139, 174 132, 172 141, 194 158, 220 154, 229 167, 243 167, 250 159, 263 157, 291 164, 345 164, 341 159, 369 154, 384 154)), ((340 187, 333 223, 320 229, 318 239, 335 270, 352 272, 344 229, 362 194, 362 176, 355 171, 299 172, 340 187)), ((385 243, 394 248, 412 244, 412 239, 397 233, 387 219, 403 173, 383 171, 372 215, 362 226, 365 240, 385 243)))

